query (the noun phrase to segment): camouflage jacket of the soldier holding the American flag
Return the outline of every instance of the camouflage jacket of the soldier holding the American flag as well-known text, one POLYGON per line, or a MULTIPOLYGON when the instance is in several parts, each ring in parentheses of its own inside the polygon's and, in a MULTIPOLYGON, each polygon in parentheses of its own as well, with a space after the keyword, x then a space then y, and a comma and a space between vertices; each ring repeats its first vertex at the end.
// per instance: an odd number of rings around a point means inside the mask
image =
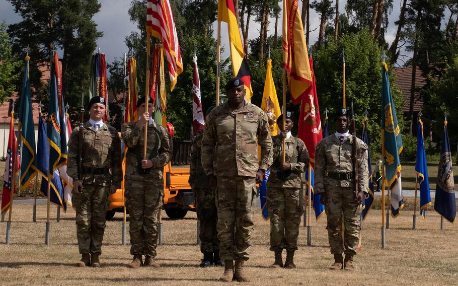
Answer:
POLYGON ((136 121, 131 121, 122 125, 121 136, 127 145, 125 178, 127 180, 133 176, 144 176, 162 180, 164 166, 169 164, 172 158, 170 134, 166 128, 156 125, 155 122, 148 125, 146 159, 151 160, 152 167, 149 174, 138 174, 137 167, 143 159, 144 127, 138 128, 136 123, 136 121), (156 146, 157 154, 154 154, 156 146))

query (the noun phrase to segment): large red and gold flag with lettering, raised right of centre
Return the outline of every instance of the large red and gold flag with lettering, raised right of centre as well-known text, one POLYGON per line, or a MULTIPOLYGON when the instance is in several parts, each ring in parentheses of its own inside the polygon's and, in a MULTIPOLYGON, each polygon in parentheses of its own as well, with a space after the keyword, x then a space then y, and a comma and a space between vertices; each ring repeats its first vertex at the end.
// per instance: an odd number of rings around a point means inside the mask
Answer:
POLYGON ((298 102, 312 85, 309 53, 297 0, 283 0, 283 68, 291 99, 298 102))

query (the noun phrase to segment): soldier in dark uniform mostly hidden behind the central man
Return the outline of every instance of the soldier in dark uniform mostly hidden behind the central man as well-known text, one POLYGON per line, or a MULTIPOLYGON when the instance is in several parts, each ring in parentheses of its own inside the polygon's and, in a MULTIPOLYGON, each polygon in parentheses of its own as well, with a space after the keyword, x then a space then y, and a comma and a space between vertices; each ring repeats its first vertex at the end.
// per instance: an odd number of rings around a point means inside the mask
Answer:
MULTIPOLYGON (((208 115, 214 106, 210 107, 205 115, 208 115)), ((219 258, 219 240, 216 231, 218 215, 215 204, 215 189, 210 187, 208 176, 202 167, 200 149, 202 147, 203 130, 192 138, 191 164, 189 170, 189 185, 194 193, 197 210, 197 219, 200 222, 199 238, 201 241, 200 251, 203 259, 200 267, 224 266, 219 258)))

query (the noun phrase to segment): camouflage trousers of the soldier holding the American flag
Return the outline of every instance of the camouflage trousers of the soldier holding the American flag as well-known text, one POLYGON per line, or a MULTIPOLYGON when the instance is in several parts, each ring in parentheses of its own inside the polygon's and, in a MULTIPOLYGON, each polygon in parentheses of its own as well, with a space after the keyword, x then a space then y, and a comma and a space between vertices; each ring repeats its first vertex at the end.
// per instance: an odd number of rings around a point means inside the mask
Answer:
POLYGON ((164 203, 162 180, 126 179, 130 254, 156 257, 159 210, 164 203))

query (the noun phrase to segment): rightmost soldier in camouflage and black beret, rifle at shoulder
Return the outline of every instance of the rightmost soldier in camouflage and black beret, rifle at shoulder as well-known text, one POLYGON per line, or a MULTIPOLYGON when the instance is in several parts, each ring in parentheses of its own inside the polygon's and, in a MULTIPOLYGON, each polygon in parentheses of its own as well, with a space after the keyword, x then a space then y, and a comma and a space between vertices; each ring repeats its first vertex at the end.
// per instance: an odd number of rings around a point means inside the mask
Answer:
POLYGON ((333 270, 355 270, 353 256, 356 254, 360 235, 360 214, 363 192, 367 192, 367 145, 356 138, 359 169, 354 170, 353 138, 349 135, 350 124, 347 110, 342 109, 335 117, 336 133, 317 144, 315 151, 315 193, 321 194, 328 218, 328 235, 331 253, 334 254, 333 270), (358 182, 355 182, 358 172, 358 182), (358 193, 355 193, 358 184, 358 193), (342 217, 345 224, 342 244, 342 217), (342 257, 345 252, 345 261, 342 257))

